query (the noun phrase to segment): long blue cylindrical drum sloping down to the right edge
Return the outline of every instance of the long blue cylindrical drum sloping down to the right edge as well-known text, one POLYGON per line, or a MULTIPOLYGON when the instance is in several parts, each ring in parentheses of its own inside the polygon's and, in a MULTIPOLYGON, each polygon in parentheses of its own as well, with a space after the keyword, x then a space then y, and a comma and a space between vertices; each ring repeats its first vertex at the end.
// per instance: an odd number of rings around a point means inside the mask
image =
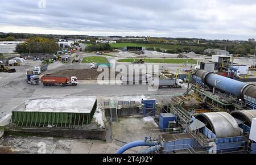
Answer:
POLYGON ((242 99, 245 99, 246 96, 256 98, 256 86, 254 84, 243 83, 205 70, 197 70, 194 79, 200 79, 201 82, 208 86, 215 87, 242 99))

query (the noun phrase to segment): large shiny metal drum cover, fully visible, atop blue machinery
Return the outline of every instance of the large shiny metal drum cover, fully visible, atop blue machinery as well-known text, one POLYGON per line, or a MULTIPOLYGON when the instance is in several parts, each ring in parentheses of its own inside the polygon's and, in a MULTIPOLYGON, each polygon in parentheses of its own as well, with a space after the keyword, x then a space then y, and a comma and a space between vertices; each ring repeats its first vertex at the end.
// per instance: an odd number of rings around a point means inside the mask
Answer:
POLYGON ((196 119, 204 122, 207 128, 216 134, 217 138, 241 136, 237 121, 229 113, 200 113, 196 119))

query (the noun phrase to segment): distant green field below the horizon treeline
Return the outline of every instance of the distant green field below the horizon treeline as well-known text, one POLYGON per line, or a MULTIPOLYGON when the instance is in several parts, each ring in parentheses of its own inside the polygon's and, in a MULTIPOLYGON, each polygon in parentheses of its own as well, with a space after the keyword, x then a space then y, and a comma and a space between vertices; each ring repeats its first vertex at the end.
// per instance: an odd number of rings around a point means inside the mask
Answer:
MULTIPOLYGON (((137 43, 117 43, 117 44, 110 44, 114 48, 123 48, 126 46, 142 46, 146 48, 161 48, 164 50, 176 50, 176 49, 188 49, 188 46, 184 45, 164 45, 164 44, 137 44, 137 43)), ((191 50, 205 50, 203 46, 189 46, 189 51, 191 50)))

